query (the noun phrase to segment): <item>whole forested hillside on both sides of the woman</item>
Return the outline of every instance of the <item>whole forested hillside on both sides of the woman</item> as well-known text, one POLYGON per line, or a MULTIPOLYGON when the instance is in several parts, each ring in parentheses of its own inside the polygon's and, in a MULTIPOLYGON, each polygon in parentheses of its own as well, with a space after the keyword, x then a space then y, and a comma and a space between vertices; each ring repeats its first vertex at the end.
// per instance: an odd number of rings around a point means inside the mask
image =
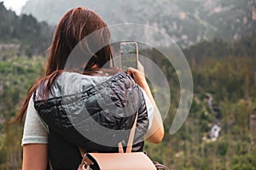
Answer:
MULTIPOLYGON (((17 24, 10 30, 6 22, 5 28, 3 20, 0 21, 0 169, 20 169, 23 124, 10 121, 32 82, 43 76, 47 61, 44 50, 53 31, 32 16, 11 14, 1 3, 0 13, 17 24), (34 25, 23 28, 27 31, 24 37, 21 35, 25 33, 19 33, 21 20, 31 24, 34 20, 34 25)), ((235 42, 215 39, 183 49, 193 75, 194 97, 186 122, 173 135, 169 129, 180 95, 177 73, 162 54, 149 49, 157 56, 154 62, 161 65, 167 77, 172 103, 164 122, 163 141, 145 144, 148 156, 171 169, 256 169, 255 47, 256 32, 253 32, 235 42), (213 127, 218 127, 217 133, 212 133, 213 127)))

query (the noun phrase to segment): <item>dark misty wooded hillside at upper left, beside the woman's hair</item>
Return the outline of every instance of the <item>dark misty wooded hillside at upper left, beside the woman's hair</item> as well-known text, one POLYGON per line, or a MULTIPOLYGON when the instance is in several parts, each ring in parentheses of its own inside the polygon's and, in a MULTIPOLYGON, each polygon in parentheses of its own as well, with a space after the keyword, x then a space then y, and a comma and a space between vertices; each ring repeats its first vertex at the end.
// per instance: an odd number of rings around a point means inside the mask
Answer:
POLYGON ((44 54, 53 34, 52 26, 31 14, 16 15, 0 2, 0 59, 14 54, 44 54))

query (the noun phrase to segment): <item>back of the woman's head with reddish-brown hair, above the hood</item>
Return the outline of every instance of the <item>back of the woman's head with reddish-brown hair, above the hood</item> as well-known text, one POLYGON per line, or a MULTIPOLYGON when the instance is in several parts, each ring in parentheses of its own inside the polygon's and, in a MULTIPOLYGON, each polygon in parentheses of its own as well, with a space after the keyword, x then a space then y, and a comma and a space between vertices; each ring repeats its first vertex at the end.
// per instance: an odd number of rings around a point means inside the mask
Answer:
POLYGON ((69 54, 83 39, 80 48, 83 48, 84 55, 88 57, 89 54, 91 57, 85 69, 90 69, 93 65, 101 68, 112 58, 111 49, 107 45, 93 53, 91 48, 102 46, 103 43, 109 41, 109 38, 110 32, 107 25, 95 12, 81 7, 67 11, 56 27, 55 36, 49 47, 49 60, 45 75, 49 76, 54 71, 63 70, 69 54), (93 33, 93 38, 90 38, 88 42, 88 39, 84 37, 91 33, 93 33))

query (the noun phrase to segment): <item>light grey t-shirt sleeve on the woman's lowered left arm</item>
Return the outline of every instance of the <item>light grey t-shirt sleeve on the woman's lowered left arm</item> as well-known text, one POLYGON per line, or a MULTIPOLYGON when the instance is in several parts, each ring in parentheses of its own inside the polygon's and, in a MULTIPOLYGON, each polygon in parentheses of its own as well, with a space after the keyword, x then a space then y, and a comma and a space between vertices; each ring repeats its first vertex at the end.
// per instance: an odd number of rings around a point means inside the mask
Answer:
POLYGON ((26 111, 26 120, 21 145, 24 144, 48 144, 48 127, 38 116, 34 108, 32 98, 26 111))

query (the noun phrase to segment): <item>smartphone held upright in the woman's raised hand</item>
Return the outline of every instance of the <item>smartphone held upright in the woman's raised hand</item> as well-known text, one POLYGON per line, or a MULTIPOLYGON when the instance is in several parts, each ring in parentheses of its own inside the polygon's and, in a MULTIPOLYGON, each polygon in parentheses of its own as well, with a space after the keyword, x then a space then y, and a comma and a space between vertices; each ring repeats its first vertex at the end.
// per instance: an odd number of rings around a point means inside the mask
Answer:
POLYGON ((138 46, 137 42, 121 42, 119 47, 121 69, 128 71, 128 67, 137 69, 138 46))

